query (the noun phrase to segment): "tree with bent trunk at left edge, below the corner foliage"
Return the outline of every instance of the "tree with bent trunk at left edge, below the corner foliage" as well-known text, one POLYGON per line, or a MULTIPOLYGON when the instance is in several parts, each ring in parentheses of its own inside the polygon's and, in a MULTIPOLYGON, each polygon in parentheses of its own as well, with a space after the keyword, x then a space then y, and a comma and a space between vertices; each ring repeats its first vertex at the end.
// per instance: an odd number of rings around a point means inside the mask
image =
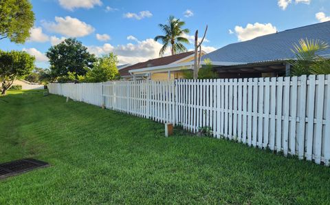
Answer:
POLYGON ((0 50, 0 91, 2 95, 12 87, 17 78, 21 78, 32 72, 34 68, 34 56, 26 52, 0 50))

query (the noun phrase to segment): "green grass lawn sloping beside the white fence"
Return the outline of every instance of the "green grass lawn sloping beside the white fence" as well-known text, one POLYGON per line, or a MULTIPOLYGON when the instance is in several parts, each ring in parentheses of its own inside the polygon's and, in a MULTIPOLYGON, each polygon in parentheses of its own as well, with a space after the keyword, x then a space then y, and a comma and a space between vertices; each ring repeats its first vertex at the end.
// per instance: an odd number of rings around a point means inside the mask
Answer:
POLYGON ((0 162, 52 166, 1 180, 0 204, 330 203, 328 167, 32 92, 0 97, 0 162))

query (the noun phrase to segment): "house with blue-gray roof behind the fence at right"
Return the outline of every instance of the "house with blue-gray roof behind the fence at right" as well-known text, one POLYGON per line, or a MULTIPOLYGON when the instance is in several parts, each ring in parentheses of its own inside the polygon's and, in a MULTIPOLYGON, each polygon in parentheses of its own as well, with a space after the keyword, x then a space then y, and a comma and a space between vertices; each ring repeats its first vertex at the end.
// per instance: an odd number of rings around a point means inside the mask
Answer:
MULTIPOLYGON (((330 21, 226 45, 202 59, 210 58, 220 78, 285 76, 290 69, 286 61, 295 58, 292 49, 300 39, 319 39, 330 45, 330 21)), ((319 55, 330 57, 330 49, 319 55)))

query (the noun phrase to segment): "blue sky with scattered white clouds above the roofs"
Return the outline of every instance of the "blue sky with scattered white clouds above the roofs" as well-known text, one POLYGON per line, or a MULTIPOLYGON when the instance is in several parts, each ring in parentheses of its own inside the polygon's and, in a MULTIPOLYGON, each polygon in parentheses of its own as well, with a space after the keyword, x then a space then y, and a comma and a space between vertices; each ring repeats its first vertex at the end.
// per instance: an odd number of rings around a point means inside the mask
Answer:
MULTIPOLYGON (((186 45, 208 25, 205 52, 256 36, 330 21, 330 0, 32 0, 36 17, 24 44, 0 40, 1 50, 23 50, 36 56, 36 66, 50 66, 45 52, 66 38, 81 41, 89 52, 113 52, 119 65, 159 57, 159 23, 170 15, 186 22, 186 45)), ((166 54, 170 54, 169 51, 166 54)))

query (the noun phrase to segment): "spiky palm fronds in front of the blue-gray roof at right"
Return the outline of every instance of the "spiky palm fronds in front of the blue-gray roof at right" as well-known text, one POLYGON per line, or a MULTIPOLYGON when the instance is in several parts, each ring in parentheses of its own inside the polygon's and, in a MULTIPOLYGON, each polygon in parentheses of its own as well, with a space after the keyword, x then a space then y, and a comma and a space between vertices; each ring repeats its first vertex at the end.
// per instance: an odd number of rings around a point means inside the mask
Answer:
POLYGON ((296 58, 287 61, 292 65, 292 76, 309 74, 330 74, 330 61, 318 55, 318 52, 329 49, 329 45, 320 40, 300 39, 294 45, 296 58))

